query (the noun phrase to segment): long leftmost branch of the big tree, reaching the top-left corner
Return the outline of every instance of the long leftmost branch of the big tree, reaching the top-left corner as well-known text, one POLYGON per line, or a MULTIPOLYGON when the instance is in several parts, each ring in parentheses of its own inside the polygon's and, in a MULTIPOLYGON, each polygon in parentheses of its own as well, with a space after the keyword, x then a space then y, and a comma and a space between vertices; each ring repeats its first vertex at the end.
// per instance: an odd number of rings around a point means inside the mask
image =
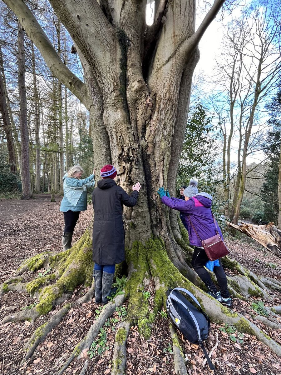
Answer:
POLYGON ((52 74, 57 77, 88 108, 86 85, 61 61, 48 36, 22 0, 3 1, 12 10, 25 33, 36 45, 52 74))

